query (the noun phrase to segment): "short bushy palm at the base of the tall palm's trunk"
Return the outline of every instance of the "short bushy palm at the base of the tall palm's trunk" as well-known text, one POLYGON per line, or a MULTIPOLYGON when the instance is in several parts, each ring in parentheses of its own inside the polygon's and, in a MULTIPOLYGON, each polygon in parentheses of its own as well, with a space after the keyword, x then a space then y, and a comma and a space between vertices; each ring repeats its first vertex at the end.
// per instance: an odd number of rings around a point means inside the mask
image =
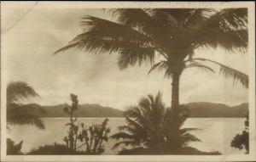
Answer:
POLYGON ((171 120, 172 109, 166 109, 162 102, 162 94, 159 92, 155 97, 151 94, 147 98, 142 98, 137 106, 125 111, 126 126, 119 126, 119 132, 112 138, 120 140, 113 145, 119 148, 121 145, 130 148, 130 151, 143 149, 154 149, 154 153, 160 151, 173 151, 181 147, 186 147, 191 141, 200 141, 197 137, 189 133, 196 128, 182 128, 184 121, 189 116, 185 109, 178 117, 179 142, 170 129, 170 125, 175 125, 171 120))

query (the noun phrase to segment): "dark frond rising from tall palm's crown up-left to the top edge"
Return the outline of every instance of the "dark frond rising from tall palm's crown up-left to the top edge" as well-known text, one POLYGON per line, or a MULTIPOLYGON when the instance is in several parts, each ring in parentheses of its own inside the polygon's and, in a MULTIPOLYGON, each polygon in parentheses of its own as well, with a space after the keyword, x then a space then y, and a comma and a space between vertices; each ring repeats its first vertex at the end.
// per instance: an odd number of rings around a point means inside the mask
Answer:
POLYGON ((113 13, 121 24, 150 37, 154 47, 160 47, 163 51, 170 48, 169 42, 172 42, 171 36, 175 32, 172 28, 176 22, 171 21, 172 15, 163 9, 118 8, 113 9, 113 13))

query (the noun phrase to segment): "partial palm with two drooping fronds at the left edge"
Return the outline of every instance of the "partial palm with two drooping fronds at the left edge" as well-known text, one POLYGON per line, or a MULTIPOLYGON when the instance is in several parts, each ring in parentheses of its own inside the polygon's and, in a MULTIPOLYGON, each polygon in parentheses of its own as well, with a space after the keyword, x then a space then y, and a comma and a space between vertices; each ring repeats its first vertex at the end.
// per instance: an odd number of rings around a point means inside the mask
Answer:
POLYGON ((10 82, 7 87, 7 123, 9 125, 34 125, 44 129, 40 115, 45 115, 44 109, 36 103, 23 104, 20 100, 38 97, 38 93, 26 82, 10 82))

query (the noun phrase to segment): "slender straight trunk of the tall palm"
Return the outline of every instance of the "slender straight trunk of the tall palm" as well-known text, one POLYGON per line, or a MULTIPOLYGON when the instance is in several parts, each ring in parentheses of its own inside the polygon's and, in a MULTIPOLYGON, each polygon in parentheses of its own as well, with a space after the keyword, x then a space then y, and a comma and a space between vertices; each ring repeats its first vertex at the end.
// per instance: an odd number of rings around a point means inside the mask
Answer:
POLYGON ((175 72, 172 75, 172 136, 175 148, 181 147, 179 126, 178 126, 178 116, 179 116, 179 78, 181 73, 175 72))

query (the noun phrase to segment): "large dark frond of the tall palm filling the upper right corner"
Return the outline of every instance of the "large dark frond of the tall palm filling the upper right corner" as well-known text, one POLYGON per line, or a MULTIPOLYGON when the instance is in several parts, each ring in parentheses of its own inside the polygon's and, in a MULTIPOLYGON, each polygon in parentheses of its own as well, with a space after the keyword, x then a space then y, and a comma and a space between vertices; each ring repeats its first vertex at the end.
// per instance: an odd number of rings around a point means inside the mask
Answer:
POLYGON ((247 49, 247 8, 226 8, 212 14, 198 30, 195 42, 227 50, 247 49))

